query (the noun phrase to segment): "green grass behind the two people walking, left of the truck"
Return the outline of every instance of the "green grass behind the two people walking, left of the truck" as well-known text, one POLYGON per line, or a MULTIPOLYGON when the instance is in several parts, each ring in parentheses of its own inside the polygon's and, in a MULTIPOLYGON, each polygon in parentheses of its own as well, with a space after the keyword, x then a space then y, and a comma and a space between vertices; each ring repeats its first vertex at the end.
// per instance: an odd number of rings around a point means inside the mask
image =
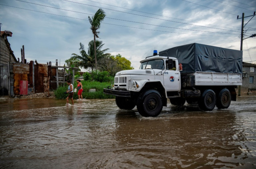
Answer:
MULTIPOLYGON (((111 86, 111 82, 97 82, 97 81, 81 81, 83 85, 82 96, 85 99, 113 99, 113 95, 106 95, 103 93, 103 88, 111 86), (96 89, 96 92, 89 92, 89 89, 96 89)), ((74 88, 77 87, 77 81, 73 84, 74 88)), ((64 94, 68 86, 59 87, 54 91, 56 99, 65 99, 68 94, 64 94)), ((77 91, 78 92, 78 91, 77 91)), ((73 99, 78 99, 77 92, 74 93, 73 99)))

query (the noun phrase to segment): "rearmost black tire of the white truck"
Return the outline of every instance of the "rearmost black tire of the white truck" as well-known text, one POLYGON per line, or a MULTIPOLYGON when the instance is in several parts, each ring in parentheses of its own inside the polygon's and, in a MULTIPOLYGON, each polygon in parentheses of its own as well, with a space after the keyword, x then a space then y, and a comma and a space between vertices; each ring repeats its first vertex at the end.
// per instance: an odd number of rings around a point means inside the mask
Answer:
POLYGON ((222 89, 217 97, 216 106, 219 109, 229 108, 231 103, 231 94, 229 89, 222 89))

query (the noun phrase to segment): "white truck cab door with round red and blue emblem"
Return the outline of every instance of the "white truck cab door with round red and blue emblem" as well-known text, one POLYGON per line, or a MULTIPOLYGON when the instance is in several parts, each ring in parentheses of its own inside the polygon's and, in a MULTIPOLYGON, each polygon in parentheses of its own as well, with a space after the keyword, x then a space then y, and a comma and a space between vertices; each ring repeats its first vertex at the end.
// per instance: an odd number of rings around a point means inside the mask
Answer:
POLYGON ((177 68, 175 60, 173 61, 173 69, 167 69, 163 74, 163 83, 166 91, 181 90, 181 75, 177 68))

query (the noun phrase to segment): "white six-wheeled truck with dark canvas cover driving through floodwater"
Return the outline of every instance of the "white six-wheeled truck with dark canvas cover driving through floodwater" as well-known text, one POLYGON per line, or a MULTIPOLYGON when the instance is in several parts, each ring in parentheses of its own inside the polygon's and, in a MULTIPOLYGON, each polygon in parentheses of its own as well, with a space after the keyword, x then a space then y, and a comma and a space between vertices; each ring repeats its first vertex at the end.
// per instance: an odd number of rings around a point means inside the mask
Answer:
POLYGON ((205 111, 228 108, 242 85, 242 51, 198 43, 154 51, 139 70, 117 72, 105 94, 115 95, 120 109, 137 106, 142 116, 158 116, 170 103, 185 101, 205 111))

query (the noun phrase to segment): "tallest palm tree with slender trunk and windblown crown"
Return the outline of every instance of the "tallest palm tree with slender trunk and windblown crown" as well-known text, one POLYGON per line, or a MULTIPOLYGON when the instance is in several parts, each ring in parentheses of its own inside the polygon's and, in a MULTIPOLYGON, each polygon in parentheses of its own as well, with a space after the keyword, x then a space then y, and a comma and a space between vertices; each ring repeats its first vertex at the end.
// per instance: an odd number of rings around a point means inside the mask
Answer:
POLYGON ((97 57, 96 57, 96 38, 99 38, 97 30, 101 27, 101 22, 105 18, 105 12, 100 8, 95 15, 90 18, 88 16, 89 22, 91 24, 91 30, 93 31, 93 36, 94 36, 94 56, 95 56, 95 69, 97 70, 97 57))

